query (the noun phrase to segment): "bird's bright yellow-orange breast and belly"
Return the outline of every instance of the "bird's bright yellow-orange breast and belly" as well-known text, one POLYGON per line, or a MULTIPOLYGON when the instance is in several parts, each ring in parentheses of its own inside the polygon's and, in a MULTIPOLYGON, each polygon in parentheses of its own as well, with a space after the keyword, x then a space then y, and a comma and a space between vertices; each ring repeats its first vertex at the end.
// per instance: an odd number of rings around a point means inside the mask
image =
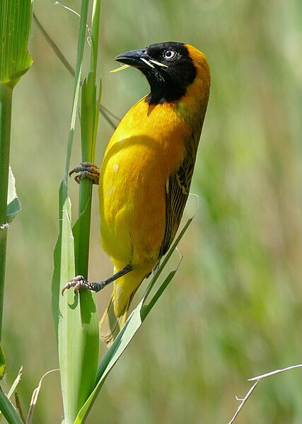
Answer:
POLYGON ((114 262, 156 264, 165 232, 165 183, 182 160, 189 132, 171 105, 155 108, 144 99, 115 130, 99 181, 103 248, 114 262))

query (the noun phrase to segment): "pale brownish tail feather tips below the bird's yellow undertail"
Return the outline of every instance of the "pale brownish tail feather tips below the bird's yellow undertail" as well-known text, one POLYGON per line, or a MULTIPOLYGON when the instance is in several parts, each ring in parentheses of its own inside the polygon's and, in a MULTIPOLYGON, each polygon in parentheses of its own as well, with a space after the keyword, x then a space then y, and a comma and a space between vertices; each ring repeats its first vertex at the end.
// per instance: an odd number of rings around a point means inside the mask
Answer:
POLYGON ((127 321, 130 304, 134 294, 135 292, 130 296, 124 310, 122 311, 122 314, 116 316, 114 308, 115 297, 114 293, 112 292, 109 305, 105 310, 102 319, 100 320, 100 340, 105 342, 108 348, 110 348, 115 338, 117 337, 117 334, 120 333, 124 323, 127 321))

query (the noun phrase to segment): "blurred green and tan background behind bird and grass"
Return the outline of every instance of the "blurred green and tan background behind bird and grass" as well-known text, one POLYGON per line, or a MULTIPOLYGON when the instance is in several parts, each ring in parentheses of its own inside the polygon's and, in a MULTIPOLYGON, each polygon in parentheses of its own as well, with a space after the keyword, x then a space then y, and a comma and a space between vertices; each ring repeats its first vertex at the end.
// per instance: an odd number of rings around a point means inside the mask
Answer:
MULTIPOLYGON (((79 1, 65 4, 80 10, 79 1)), ((34 7, 74 64, 79 19, 52 0, 34 7)), ((125 50, 189 42, 207 55, 212 82, 192 183, 200 206, 180 245, 182 264, 88 423, 228 423, 249 377, 301 363, 301 1, 104 0, 101 13, 102 103, 116 115, 148 91, 134 69, 109 74, 125 50)), ((8 235, 3 328, 7 383, 23 365, 25 410, 42 374, 58 365, 52 251, 73 88, 35 23, 30 52, 33 67, 13 96, 11 166, 23 211, 8 235)), ((100 118, 98 165, 111 134, 100 118)), ((79 160, 78 127, 72 164, 79 160)), ((76 183, 69 190, 76 217, 76 183)), ((95 191, 91 280, 112 271, 98 219, 95 191)), ((100 314, 109 295, 98 294, 100 314)), ((300 369, 270 377, 236 423, 301 423, 301 394, 300 369)), ((61 412, 54 373, 33 422, 59 423, 61 412)))

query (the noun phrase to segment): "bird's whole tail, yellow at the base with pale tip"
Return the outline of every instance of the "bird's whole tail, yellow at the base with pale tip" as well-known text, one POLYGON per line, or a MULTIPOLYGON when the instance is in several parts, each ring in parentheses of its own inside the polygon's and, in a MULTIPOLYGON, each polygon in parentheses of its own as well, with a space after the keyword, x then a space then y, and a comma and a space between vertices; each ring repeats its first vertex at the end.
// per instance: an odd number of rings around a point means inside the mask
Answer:
POLYGON ((100 340, 108 348, 127 321, 134 294, 147 274, 146 270, 133 270, 115 281, 109 305, 100 320, 100 340))

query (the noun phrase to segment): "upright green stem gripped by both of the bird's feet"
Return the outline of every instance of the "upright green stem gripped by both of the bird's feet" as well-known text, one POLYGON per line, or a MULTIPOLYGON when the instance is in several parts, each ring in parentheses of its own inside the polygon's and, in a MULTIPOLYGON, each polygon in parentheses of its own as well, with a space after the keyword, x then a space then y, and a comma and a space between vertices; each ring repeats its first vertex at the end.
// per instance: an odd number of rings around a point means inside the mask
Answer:
MULTIPOLYGON (((95 72, 91 71, 81 89, 81 147, 82 161, 93 161, 93 133, 95 125, 95 72)), ((91 227, 91 195, 92 181, 85 178, 80 183, 79 218, 74 225, 74 246, 76 258, 76 275, 88 277, 88 254, 91 227)), ((98 313, 95 293, 81 291, 80 308, 82 323, 79 330, 83 332, 81 339, 83 359, 79 366, 83 367, 81 377, 81 397, 83 402, 93 390, 95 375, 98 369, 98 313)), ((81 403, 81 406, 83 403, 81 403)), ((79 411, 79 410, 78 410, 79 411)))

